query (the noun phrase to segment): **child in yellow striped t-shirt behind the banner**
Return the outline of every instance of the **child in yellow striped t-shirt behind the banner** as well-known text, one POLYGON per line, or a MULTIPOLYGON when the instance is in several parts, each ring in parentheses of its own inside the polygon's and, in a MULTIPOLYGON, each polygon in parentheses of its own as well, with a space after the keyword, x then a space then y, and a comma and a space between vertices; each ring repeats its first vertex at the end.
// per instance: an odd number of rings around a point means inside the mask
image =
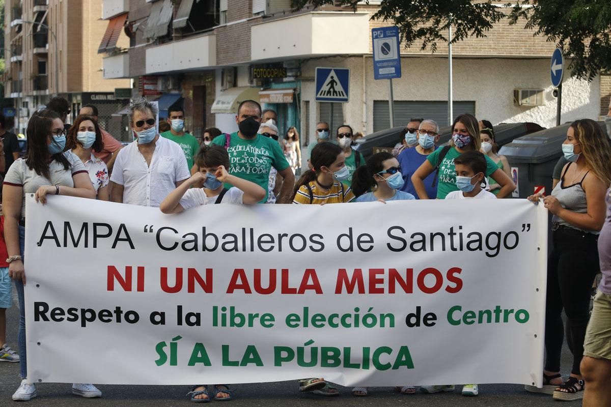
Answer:
POLYGON ((348 179, 346 157, 340 146, 323 142, 312 149, 312 170, 305 171, 293 191, 295 204, 345 203, 354 193, 342 181, 348 179))

